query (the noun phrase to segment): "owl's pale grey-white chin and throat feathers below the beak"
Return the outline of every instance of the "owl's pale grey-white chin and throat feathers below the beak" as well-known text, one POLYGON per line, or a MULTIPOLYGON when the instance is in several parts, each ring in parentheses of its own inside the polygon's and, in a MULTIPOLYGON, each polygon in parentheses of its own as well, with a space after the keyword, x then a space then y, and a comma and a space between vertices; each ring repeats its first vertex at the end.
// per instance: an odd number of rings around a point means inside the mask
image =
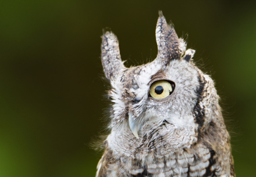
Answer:
POLYGON ((163 152, 173 154, 183 151, 197 142, 196 124, 180 126, 170 122, 170 120, 147 121, 147 124, 141 127, 138 139, 128 126, 114 127, 106 139, 108 148, 113 151, 115 157, 144 159, 146 156, 151 158, 159 156, 163 152))

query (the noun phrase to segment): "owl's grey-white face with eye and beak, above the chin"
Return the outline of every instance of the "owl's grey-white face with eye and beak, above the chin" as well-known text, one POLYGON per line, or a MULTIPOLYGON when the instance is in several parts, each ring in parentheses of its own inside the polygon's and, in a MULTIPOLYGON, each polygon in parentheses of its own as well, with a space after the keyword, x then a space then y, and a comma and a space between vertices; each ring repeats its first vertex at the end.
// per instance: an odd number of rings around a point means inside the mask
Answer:
POLYGON ((152 121, 165 120, 177 127, 194 124, 193 109, 200 83, 197 70, 186 60, 173 60, 164 68, 158 63, 132 67, 117 74, 111 85, 113 118, 117 123, 128 118, 137 138, 138 133, 141 137, 147 132, 141 127, 152 121))

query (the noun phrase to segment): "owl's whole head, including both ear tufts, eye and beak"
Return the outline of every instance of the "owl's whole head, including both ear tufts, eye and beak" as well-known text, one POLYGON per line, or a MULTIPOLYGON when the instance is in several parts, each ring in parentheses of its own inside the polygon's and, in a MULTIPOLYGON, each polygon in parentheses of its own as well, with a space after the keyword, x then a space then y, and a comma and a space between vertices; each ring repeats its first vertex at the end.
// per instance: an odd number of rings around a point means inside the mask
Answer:
POLYGON ((211 78, 193 63, 195 50, 186 50, 162 12, 155 35, 157 58, 130 68, 121 60, 118 38, 109 31, 102 36, 101 62, 113 103, 109 139, 150 147, 161 138, 171 149, 189 147, 217 122, 219 97, 211 78))

